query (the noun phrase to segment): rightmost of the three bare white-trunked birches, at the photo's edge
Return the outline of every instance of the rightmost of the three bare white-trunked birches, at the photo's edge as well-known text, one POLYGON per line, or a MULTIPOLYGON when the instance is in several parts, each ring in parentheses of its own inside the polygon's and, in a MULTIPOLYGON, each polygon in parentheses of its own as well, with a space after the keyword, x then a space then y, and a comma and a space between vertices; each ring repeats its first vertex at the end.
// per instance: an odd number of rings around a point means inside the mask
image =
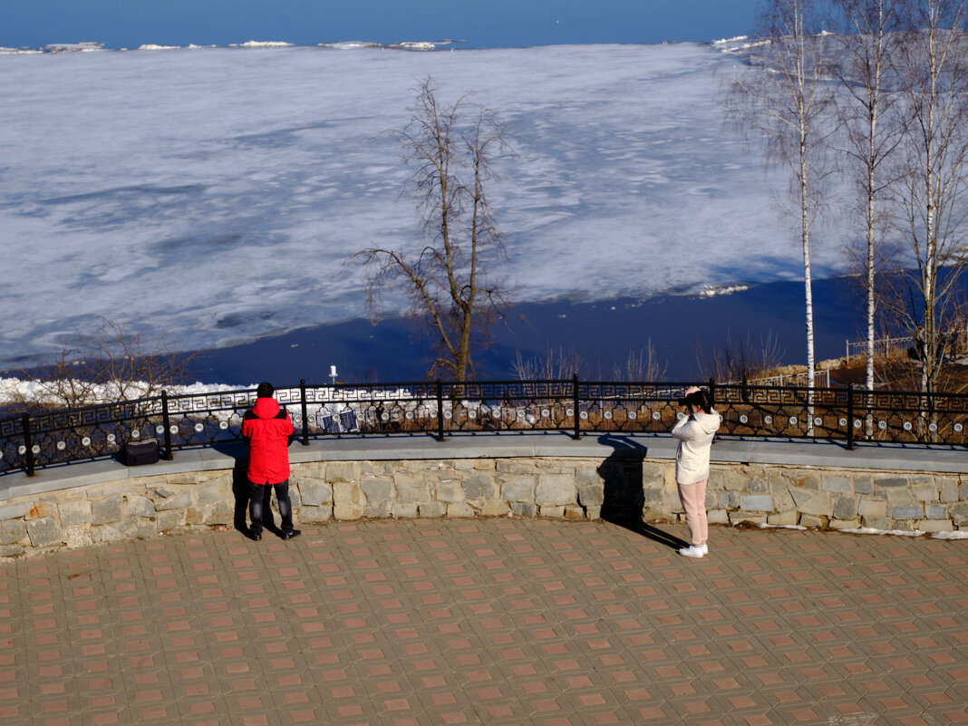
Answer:
POLYGON ((889 280, 898 316, 921 331, 921 385, 930 393, 944 365, 941 325, 965 261, 968 9, 962 0, 917 0, 906 7, 908 30, 898 48, 906 123, 894 202, 915 269, 889 280))

